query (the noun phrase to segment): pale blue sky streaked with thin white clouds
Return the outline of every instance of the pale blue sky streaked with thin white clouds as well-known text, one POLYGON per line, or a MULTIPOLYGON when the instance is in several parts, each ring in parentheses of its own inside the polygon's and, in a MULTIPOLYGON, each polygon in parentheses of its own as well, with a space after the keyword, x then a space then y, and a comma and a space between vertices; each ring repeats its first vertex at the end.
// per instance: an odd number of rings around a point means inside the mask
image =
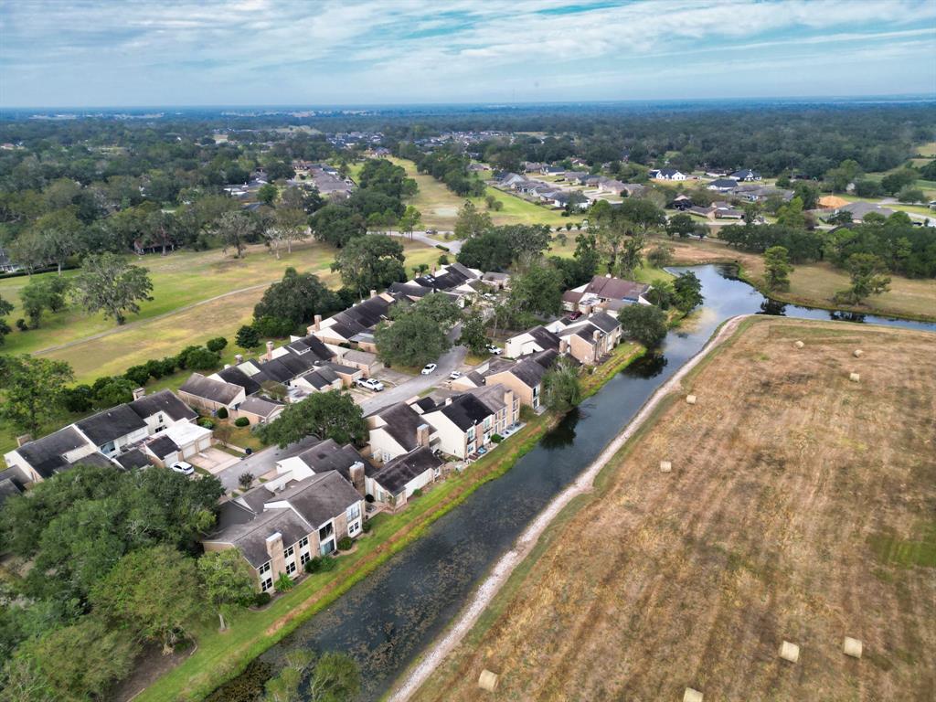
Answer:
POLYGON ((0 106, 936 94, 936 0, 19 0, 0 106))

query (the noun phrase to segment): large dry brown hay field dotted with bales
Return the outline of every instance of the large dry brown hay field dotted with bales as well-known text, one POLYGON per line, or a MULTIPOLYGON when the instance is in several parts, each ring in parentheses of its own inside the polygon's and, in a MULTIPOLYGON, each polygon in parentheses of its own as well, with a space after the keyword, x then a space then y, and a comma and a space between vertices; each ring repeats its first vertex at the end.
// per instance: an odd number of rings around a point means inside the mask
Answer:
POLYGON ((687 686, 931 698, 936 339, 743 328, 563 511, 414 699, 478 699, 484 668, 504 700, 677 700, 687 686), (862 660, 843 636, 863 641, 862 660), (783 640, 797 664, 777 656, 783 640))

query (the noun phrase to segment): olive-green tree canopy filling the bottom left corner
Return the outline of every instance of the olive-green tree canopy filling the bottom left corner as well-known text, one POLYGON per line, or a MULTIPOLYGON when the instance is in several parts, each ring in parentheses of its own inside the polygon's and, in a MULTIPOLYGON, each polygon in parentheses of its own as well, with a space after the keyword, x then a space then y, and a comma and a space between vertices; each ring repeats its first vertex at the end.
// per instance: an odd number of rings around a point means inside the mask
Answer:
POLYGON ((103 699, 133 669, 139 646, 100 617, 82 617, 20 646, 3 667, 4 702, 103 699))

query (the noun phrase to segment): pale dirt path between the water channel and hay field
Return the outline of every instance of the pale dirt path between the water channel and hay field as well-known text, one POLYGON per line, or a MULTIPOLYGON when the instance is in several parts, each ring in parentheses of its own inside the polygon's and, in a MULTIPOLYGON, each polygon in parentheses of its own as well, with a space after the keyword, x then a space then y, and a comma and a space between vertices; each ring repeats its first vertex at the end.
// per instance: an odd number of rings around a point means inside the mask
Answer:
POLYGON ((505 555, 494 564, 488 578, 478 587, 474 598, 471 600, 468 607, 462 610, 458 620, 456 620, 446 635, 432 644, 429 651, 425 653, 422 660, 409 673, 406 680, 403 680, 402 684, 388 697, 389 702, 405 702, 405 700, 408 700, 410 696, 416 693, 423 682, 429 679, 435 668, 446 658, 446 655, 461 642, 461 639, 475 625, 478 617, 481 616, 481 613, 493 601, 494 596, 504 586, 507 578, 510 578, 514 569, 527 557, 530 551, 533 550, 539 537, 546 531, 552 520, 563 511, 566 505, 578 497, 578 495, 592 490, 595 477, 597 477, 602 468, 605 467, 607 461, 610 461, 614 454, 616 454, 636 431, 640 429, 644 422, 651 417, 653 410, 663 398, 670 392, 680 388, 680 383, 686 373, 692 371, 715 346, 729 338, 735 330, 738 329, 740 322, 746 316, 747 315, 739 315, 729 319, 722 326, 722 329, 719 329, 718 333, 709 339, 708 344, 706 344, 698 354, 687 361, 673 377, 653 393, 650 400, 644 404, 636 417, 624 428, 624 431, 618 434, 618 436, 606 446, 605 450, 599 454, 598 458, 592 461, 592 464, 585 472, 579 475, 572 485, 560 492, 555 499, 547 505, 546 509, 539 513, 536 519, 523 531, 523 534, 520 534, 515 547, 505 553, 505 555))

